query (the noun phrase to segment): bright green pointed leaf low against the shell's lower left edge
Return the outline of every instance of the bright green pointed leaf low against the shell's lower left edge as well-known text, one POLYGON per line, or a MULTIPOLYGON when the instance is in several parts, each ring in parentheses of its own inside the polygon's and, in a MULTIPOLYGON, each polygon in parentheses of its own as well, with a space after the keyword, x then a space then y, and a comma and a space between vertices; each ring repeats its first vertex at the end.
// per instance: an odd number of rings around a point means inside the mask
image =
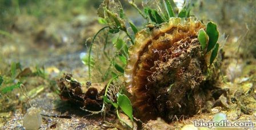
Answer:
POLYGON ((117 103, 122 111, 133 121, 133 107, 131 101, 126 95, 117 94, 117 103))

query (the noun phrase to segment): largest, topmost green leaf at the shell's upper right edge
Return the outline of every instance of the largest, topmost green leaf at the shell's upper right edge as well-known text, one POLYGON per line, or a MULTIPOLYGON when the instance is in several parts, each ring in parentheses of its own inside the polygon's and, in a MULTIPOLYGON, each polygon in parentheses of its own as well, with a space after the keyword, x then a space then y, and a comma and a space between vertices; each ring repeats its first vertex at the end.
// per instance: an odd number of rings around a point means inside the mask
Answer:
POLYGON ((206 33, 209 36, 209 42, 206 52, 209 52, 211 49, 213 49, 213 47, 218 41, 219 32, 217 30, 217 25, 213 22, 207 23, 206 33))

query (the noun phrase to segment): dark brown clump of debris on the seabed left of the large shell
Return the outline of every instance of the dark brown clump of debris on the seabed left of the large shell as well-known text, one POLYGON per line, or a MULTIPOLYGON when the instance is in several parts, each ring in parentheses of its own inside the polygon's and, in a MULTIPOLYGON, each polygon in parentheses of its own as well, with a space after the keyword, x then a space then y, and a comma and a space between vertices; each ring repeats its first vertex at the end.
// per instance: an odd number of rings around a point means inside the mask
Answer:
POLYGON ((99 111, 103 103, 101 98, 103 88, 100 84, 91 84, 91 87, 87 84, 83 86, 71 74, 63 74, 58 80, 58 87, 61 90, 59 96, 62 100, 73 101, 82 108, 99 111))

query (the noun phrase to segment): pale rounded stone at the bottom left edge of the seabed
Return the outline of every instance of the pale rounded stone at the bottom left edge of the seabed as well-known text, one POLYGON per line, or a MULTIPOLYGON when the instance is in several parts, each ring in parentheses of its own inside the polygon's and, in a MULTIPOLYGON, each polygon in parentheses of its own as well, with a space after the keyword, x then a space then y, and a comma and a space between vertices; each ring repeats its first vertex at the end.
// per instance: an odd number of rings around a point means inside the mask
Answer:
POLYGON ((38 129, 42 124, 42 116, 38 108, 31 107, 23 119, 23 127, 26 129, 38 129))

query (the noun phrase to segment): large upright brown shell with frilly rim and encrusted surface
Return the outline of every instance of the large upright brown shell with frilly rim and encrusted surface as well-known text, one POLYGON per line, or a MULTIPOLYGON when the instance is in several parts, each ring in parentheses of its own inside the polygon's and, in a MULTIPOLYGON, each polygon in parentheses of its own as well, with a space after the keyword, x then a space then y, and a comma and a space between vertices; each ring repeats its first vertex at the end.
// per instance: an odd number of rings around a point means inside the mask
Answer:
POLYGON ((199 29, 205 25, 195 18, 170 18, 152 31, 144 29, 135 35, 125 69, 135 116, 171 120, 199 110, 207 68, 197 39, 199 29))

